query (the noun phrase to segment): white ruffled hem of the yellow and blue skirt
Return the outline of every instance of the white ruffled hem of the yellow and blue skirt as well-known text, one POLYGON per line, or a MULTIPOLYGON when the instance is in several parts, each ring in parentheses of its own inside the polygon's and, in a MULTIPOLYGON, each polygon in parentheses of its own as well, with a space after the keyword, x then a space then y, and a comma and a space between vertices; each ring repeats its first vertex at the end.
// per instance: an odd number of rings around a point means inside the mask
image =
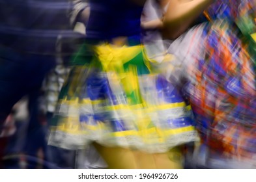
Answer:
POLYGON ((164 153, 175 146, 180 146, 188 142, 199 141, 197 131, 188 131, 165 138, 165 142, 147 144, 139 136, 119 136, 119 137, 91 137, 88 135, 72 135, 63 131, 52 131, 48 144, 64 149, 85 149, 91 142, 97 142, 102 146, 130 148, 145 151, 147 153, 164 153))

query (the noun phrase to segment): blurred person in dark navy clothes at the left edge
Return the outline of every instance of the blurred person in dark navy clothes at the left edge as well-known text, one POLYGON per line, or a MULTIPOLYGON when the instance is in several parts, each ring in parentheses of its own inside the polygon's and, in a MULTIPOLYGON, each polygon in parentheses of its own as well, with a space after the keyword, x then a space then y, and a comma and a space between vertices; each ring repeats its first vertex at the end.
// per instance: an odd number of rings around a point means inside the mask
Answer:
MULTIPOLYGON (((38 119, 38 97, 42 81, 56 65, 57 38, 63 42, 63 57, 72 55, 76 38, 66 12, 68 1, 0 1, 0 165, 10 138, 5 133, 12 107, 29 96, 29 123, 25 133, 25 153, 37 156, 46 149, 45 134, 38 119), (71 46, 70 46, 71 45, 71 46)), ((44 156, 46 157, 46 156, 44 156)), ((28 168, 36 168, 31 164, 28 168)))

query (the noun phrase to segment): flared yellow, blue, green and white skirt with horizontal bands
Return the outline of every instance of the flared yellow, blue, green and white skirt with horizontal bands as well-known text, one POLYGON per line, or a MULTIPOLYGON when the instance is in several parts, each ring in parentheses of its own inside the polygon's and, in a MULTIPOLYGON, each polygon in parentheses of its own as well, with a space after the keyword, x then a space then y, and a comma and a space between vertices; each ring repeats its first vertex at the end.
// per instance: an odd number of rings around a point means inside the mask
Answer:
POLYGON ((85 44, 73 62, 49 144, 79 149, 97 142, 158 153, 199 139, 190 105, 142 45, 85 44), (88 49, 93 54, 81 56, 88 49))

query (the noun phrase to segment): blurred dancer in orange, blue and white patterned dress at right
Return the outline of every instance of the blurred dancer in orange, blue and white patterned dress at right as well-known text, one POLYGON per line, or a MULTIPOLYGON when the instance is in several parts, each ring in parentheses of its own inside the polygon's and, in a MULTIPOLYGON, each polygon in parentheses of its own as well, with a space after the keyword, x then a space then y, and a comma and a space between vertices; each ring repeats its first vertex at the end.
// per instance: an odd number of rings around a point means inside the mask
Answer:
POLYGON ((173 17, 172 23, 164 23, 167 30, 188 29, 168 51, 177 57, 175 75, 187 81, 184 93, 210 149, 203 151, 209 155, 208 168, 255 168, 255 5, 250 0, 216 1, 204 12, 210 22, 192 29, 185 26, 186 17, 175 18, 175 1, 165 14, 173 17))

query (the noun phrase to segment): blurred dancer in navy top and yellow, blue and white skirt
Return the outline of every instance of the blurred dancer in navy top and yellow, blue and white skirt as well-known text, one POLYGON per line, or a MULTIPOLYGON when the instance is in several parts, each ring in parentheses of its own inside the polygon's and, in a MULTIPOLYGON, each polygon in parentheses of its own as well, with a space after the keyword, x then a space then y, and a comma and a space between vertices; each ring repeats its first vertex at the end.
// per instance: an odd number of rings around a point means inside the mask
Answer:
POLYGON ((193 115, 144 54, 143 5, 90 2, 87 42, 74 55, 49 142, 94 144, 109 168, 182 168, 180 146, 197 140, 193 115))

